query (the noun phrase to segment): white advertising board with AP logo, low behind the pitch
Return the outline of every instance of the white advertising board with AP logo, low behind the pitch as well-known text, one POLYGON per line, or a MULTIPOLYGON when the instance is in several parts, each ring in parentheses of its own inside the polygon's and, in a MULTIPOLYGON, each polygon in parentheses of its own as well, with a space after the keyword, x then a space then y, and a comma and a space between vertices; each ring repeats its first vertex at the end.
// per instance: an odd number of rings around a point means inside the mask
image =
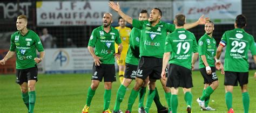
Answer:
POLYGON ((45 50, 45 73, 89 73, 93 59, 87 48, 56 48, 45 50))

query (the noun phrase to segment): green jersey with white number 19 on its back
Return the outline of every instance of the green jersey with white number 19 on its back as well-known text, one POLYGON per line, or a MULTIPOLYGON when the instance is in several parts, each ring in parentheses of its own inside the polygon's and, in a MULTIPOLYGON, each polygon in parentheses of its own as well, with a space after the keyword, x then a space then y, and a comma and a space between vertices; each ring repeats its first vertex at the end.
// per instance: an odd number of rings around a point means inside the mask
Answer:
POLYGON ((192 52, 198 52, 196 37, 190 31, 176 29, 166 37, 165 52, 171 52, 169 63, 191 69, 192 52))

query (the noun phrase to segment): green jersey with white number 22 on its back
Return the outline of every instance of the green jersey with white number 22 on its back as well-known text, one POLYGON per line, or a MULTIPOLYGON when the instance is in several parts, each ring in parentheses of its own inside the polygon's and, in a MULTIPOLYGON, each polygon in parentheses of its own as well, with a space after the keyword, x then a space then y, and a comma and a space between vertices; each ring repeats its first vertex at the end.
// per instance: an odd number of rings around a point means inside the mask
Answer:
POLYGON ((231 72, 248 72, 248 50, 256 55, 254 38, 244 29, 226 31, 220 41, 220 45, 226 46, 224 70, 231 72))

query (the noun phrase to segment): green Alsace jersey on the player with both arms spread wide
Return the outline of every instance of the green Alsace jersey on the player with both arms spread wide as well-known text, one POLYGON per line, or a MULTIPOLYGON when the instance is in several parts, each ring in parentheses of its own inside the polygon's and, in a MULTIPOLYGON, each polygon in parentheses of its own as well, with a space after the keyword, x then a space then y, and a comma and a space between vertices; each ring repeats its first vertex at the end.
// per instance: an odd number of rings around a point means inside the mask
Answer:
POLYGON ((132 26, 141 30, 140 56, 163 58, 167 32, 173 32, 175 26, 161 21, 151 26, 149 20, 136 19, 132 20, 132 26))

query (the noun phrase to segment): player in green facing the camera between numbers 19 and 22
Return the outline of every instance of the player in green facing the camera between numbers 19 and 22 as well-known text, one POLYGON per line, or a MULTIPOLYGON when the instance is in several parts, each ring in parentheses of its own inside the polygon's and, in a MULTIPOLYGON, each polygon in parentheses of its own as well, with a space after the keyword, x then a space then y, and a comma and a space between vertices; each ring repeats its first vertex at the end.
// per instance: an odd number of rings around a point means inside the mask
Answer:
POLYGON ((216 41, 212 36, 214 30, 213 22, 206 23, 204 28, 205 34, 198 41, 199 70, 204 77, 204 90, 203 95, 197 99, 197 102, 201 110, 213 111, 216 109, 211 108, 208 103, 210 95, 219 86, 214 63, 217 47, 216 41))

